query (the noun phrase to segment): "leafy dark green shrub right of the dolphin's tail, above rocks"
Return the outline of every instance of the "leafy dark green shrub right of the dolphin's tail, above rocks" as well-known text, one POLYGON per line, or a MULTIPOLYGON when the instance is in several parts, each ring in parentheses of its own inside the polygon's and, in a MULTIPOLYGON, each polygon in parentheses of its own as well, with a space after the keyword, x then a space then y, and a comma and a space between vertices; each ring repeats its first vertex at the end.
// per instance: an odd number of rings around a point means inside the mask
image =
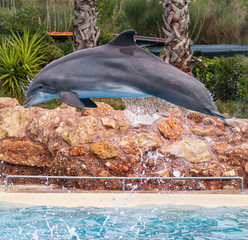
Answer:
POLYGON ((193 74, 205 84, 215 100, 240 100, 243 97, 238 83, 243 84, 242 76, 248 69, 247 57, 235 55, 227 58, 202 58, 202 62, 207 68, 198 65, 193 69, 193 74))

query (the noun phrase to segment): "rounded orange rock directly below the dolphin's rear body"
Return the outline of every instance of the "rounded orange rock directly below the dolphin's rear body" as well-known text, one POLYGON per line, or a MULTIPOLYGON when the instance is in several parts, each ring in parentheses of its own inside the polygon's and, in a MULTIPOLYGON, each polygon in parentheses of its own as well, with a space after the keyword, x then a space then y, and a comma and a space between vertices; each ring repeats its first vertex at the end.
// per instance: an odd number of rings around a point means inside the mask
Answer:
POLYGON ((167 118, 158 124, 159 131, 165 138, 177 140, 182 135, 182 128, 174 118, 167 118))

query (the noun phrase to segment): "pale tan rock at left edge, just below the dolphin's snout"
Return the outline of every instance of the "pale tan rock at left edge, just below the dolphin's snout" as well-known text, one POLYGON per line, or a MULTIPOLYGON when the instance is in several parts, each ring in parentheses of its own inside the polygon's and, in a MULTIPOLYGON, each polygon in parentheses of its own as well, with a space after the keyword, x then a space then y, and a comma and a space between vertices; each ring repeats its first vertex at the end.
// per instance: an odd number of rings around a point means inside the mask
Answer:
POLYGON ((21 106, 0 111, 0 138, 17 137, 28 124, 28 110, 21 106))

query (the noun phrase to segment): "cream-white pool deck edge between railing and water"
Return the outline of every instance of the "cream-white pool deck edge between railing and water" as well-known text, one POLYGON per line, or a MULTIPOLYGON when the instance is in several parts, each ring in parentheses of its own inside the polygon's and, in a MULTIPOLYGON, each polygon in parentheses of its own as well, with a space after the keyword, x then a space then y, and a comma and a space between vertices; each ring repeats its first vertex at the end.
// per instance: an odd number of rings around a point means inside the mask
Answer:
POLYGON ((138 208, 154 206, 248 207, 248 190, 196 192, 60 192, 51 189, 22 189, 5 192, 0 187, 0 202, 22 206, 138 208))

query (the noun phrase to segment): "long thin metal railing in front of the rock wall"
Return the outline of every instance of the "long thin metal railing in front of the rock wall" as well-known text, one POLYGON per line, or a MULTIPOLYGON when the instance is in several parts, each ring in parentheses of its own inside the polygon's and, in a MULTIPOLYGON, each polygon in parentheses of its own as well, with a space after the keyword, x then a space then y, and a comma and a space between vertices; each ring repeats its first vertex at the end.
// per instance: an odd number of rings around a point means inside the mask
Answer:
POLYGON ((8 192, 8 179, 10 178, 37 178, 37 179, 78 179, 78 180, 122 180, 122 190, 126 190, 126 180, 240 180, 241 193, 244 192, 244 179, 242 177, 76 177, 76 176, 28 176, 7 175, 5 178, 5 191, 8 192))

